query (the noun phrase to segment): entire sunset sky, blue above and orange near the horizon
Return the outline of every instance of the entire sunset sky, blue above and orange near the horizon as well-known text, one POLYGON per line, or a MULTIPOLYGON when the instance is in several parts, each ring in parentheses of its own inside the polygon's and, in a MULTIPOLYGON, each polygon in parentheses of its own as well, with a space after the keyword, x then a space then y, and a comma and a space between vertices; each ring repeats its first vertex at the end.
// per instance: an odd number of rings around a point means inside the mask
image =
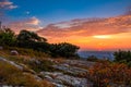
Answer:
POLYGON ((131 49, 131 0, 0 0, 0 21, 81 50, 131 49))

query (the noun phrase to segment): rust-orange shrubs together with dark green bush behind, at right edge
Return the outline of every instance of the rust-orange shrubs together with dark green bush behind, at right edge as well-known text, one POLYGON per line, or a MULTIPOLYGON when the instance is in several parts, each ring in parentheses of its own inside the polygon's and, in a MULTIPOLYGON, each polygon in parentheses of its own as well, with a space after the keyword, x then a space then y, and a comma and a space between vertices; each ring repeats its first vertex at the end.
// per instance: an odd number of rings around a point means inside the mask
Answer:
POLYGON ((131 51, 116 51, 115 60, 98 60, 90 57, 87 61, 95 61, 95 65, 88 69, 87 78, 94 83, 94 87, 131 86, 131 51))

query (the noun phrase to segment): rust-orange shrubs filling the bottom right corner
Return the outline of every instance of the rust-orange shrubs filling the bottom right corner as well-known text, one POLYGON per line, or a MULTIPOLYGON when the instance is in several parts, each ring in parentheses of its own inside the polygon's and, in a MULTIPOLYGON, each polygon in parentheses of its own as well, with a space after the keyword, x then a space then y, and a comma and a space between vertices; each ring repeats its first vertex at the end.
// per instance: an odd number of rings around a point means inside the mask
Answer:
POLYGON ((123 63, 96 63, 88 70, 87 76, 93 83, 94 87, 110 87, 111 85, 123 87, 131 86, 131 69, 123 63))

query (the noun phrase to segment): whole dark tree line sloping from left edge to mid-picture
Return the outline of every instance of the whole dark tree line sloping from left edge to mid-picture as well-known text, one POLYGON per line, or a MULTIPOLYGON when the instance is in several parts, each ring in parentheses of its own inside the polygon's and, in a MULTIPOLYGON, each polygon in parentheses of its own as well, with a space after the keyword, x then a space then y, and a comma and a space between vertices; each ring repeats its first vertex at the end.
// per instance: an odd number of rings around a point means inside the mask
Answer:
POLYGON ((79 58, 76 52, 80 49, 68 42, 49 44, 46 38, 29 30, 21 30, 19 35, 15 35, 10 28, 0 30, 0 46, 27 48, 48 53, 51 57, 63 58, 79 58))

